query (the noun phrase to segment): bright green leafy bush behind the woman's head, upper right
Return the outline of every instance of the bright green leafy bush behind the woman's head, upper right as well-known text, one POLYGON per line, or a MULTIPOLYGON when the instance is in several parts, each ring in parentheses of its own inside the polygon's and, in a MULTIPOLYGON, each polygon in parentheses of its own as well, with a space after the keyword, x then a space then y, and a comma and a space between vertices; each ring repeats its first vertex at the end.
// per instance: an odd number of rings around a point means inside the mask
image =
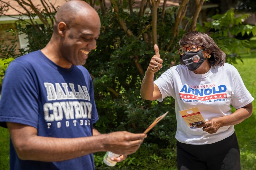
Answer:
POLYGON ((204 22, 204 26, 197 25, 198 31, 206 32, 216 42, 219 48, 227 55, 227 62, 237 64, 236 59, 242 61, 241 54, 249 53, 248 40, 240 40, 236 36, 241 34, 248 36, 256 34, 255 25, 243 25, 250 14, 235 16, 234 9, 228 10, 225 14, 218 14, 212 17, 211 22, 204 22))

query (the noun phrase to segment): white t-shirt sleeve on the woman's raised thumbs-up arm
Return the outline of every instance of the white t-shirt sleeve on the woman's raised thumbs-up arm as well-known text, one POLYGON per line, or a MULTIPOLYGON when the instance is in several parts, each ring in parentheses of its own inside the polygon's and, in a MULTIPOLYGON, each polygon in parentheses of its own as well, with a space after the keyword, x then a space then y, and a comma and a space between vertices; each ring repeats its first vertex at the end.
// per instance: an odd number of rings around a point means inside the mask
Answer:
POLYGON ((167 96, 175 96, 174 84, 173 84, 173 71, 169 68, 158 79, 154 81, 154 84, 159 88, 162 98, 157 99, 162 102, 167 96))

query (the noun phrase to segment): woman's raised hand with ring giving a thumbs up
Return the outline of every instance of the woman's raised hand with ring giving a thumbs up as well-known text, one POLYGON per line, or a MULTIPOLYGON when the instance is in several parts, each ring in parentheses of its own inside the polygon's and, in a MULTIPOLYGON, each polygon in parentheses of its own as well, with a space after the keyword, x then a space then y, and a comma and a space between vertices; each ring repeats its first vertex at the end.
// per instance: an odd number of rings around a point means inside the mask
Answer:
POLYGON ((163 67, 163 60, 160 58, 159 48, 155 44, 154 45, 155 55, 151 58, 149 66, 147 68, 148 71, 157 72, 163 67))

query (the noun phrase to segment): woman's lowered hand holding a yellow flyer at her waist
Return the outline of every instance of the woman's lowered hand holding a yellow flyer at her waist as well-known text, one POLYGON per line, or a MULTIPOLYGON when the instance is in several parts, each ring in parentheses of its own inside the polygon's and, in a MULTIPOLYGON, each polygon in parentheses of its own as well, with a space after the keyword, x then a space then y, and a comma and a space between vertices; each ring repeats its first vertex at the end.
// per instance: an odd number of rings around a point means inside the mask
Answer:
POLYGON ((206 121, 205 123, 202 123, 201 125, 198 125, 197 128, 203 127, 203 131, 208 133, 216 133, 217 130, 222 127, 221 125, 221 117, 219 118, 212 118, 209 121, 206 121))

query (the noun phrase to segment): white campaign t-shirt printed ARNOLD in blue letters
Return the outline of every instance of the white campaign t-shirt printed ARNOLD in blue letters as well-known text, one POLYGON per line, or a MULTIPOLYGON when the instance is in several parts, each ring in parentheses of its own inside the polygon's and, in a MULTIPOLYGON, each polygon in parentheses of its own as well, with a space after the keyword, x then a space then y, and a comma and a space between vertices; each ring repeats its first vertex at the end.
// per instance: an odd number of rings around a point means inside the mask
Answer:
POLYGON ((254 98, 246 89, 237 69, 225 63, 211 67, 205 74, 189 71, 185 65, 169 68, 154 81, 163 98, 175 99, 177 131, 175 138, 187 144, 201 145, 221 141, 234 133, 234 126, 223 126, 216 133, 202 128, 190 129, 180 110, 198 107, 205 121, 231 114, 230 105, 236 109, 251 103, 254 98))

